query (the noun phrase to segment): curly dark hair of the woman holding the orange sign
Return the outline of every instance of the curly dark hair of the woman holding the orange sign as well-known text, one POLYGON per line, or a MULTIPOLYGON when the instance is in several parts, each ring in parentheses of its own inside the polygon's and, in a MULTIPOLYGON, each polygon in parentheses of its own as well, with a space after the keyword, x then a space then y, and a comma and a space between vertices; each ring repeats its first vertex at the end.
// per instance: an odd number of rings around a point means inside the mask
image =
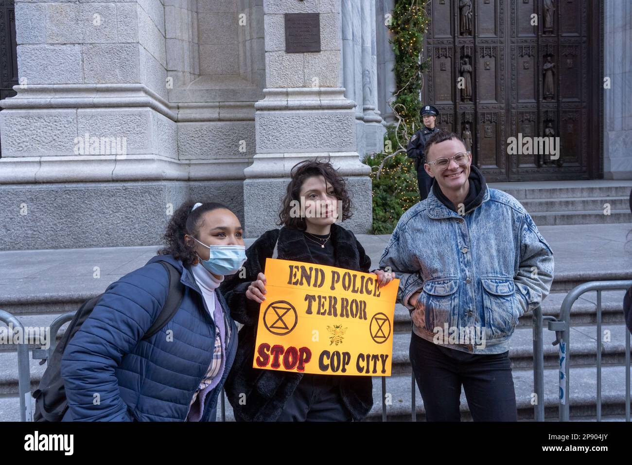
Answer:
POLYGON ((304 218, 293 218, 290 212, 292 210, 291 202, 301 201, 300 193, 303 182, 312 176, 324 177, 325 182, 334 188, 336 198, 343 202, 341 220, 344 221, 351 218, 353 213, 351 213, 351 199, 347 192, 346 179, 337 173, 336 168, 334 168, 329 161, 313 159, 301 161, 292 167, 290 171, 291 180, 288 183, 288 189, 283 197, 283 206, 281 207, 281 213, 279 213, 277 225, 298 230, 305 230, 305 228, 307 228, 304 218))

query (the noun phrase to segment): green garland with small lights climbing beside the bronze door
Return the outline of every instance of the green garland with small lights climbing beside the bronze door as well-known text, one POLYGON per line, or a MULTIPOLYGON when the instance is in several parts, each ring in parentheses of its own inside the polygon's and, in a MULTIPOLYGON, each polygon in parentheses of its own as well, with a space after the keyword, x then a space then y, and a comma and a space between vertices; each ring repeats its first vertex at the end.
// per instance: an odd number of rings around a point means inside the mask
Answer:
POLYGON ((393 35, 390 42, 395 53, 397 88, 392 107, 400 124, 399 128, 391 125, 387 129, 384 152, 366 159, 371 166, 374 234, 390 234, 404 211, 419 201, 417 173, 413 160, 406 158, 405 152, 392 156, 384 163, 379 179, 377 170, 384 158, 402 148, 397 140, 405 148, 408 143, 406 134, 411 137, 420 126, 422 102, 419 95, 423 87, 423 73, 429 68, 427 61, 419 63, 423 34, 430 22, 423 9, 426 3, 427 0, 396 0, 388 26, 393 35))

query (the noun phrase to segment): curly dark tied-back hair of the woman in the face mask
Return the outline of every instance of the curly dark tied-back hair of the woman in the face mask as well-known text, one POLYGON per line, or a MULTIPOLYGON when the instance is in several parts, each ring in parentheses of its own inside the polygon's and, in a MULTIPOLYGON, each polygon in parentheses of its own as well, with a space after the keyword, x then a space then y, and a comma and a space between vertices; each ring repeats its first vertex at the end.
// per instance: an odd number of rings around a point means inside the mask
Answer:
POLYGON ((204 202, 195 210, 191 211, 193 205, 197 202, 186 201, 174 211, 167 230, 164 233, 165 247, 158 251, 159 255, 171 255, 176 260, 181 260, 185 266, 197 263, 197 254, 190 245, 185 243, 185 234, 198 239, 200 226, 204 223, 202 215, 207 211, 225 208, 230 210, 226 205, 217 202, 204 202))

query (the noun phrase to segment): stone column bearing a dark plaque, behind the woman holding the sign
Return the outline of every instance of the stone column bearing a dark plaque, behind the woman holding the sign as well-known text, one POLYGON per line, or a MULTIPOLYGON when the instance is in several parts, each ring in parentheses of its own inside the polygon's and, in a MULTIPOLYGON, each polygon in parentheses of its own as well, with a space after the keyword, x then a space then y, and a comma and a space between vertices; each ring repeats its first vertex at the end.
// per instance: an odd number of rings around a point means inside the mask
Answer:
POLYGON ((264 99, 255 104, 257 153, 244 170, 245 228, 259 235, 276 227, 291 168, 305 159, 330 158, 348 179, 357 233, 371 227, 370 168, 356 150, 354 102, 344 96, 341 3, 264 1, 264 99), (285 13, 320 14, 320 52, 286 53, 285 13))

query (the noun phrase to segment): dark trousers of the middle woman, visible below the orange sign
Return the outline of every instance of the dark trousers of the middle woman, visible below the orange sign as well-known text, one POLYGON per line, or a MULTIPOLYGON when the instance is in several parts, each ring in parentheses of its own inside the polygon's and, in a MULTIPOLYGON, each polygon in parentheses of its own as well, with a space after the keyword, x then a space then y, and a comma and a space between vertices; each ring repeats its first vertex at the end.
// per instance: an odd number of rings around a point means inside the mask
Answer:
POLYGON ((277 421, 351 421, 336 375, 305 374, 277 421))

